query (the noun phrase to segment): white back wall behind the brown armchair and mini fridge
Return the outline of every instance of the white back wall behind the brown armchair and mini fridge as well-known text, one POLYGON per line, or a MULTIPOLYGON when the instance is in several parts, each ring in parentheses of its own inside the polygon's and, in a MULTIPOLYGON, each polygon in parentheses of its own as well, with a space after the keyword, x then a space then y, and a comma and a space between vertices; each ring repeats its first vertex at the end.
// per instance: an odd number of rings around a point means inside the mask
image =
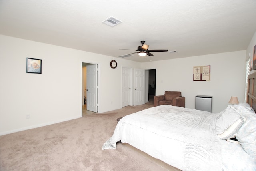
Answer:
MULTIPOLYGON (((156 95, 181 91, 185 107, 195 109, 196 95, 212 95, 212 112, 229 105, 231 96, 244 101, 246 51, 210 54, 156 62, 146 62, 146 69, 156 68, 156 95), (193 81, 194 66, 211 66, 210 81, 193 81)), ((156 57, 157 58, 157 57, 156 57)))

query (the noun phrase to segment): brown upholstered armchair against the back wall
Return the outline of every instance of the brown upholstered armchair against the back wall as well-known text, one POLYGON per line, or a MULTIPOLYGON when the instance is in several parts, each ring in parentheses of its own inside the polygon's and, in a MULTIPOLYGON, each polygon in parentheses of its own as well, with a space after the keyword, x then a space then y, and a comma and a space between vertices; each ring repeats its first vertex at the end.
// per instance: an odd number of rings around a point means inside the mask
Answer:
POLYGON ((165 91, 164 95, 154 97, 154 107, 158 105, 185 107, 185 97, 181 96, 180 91, 165 91))

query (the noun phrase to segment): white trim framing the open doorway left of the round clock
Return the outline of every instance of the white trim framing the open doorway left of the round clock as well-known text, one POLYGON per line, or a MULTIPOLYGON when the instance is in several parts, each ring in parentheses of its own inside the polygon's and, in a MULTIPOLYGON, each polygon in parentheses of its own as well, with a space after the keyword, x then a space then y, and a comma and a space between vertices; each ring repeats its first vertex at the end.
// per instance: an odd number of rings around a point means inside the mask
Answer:
POLYGON ((83 101, 84 101, 84 97, 83 97, 83 75, 82 75, 82 63, 88 63, 88 64, 97 64, 97 68, 98 68, 98 72, 97 72, 97 82, 98 82, 98 89, 97 89, 97 108, 98 108, 98 113, 100 113, 100 63, 98 62, 93 62, 93 61, 87 61, 87 60, 81 60, 80 64, 79 64, 79 71, 80 71, 80 113, 81 113, 81 117, 83 116, 83 101))

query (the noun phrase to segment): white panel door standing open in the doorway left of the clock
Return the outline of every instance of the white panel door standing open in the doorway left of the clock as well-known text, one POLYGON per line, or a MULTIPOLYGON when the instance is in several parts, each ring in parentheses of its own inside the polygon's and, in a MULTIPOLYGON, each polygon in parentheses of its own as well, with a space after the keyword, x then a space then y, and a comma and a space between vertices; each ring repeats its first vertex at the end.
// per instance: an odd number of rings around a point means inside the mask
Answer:
POLYGON ((87 65, 86 108, 98 112, 97 64, 87 65))

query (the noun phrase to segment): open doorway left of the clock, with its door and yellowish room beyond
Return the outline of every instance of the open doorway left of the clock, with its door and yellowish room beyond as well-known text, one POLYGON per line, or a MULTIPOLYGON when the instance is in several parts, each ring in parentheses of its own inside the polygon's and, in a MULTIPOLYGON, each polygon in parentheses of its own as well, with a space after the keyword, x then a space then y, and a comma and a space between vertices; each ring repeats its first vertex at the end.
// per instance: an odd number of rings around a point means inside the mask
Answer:
POLYGON ((98 112, 98 64, 82 62, 82 115, 98 112))

